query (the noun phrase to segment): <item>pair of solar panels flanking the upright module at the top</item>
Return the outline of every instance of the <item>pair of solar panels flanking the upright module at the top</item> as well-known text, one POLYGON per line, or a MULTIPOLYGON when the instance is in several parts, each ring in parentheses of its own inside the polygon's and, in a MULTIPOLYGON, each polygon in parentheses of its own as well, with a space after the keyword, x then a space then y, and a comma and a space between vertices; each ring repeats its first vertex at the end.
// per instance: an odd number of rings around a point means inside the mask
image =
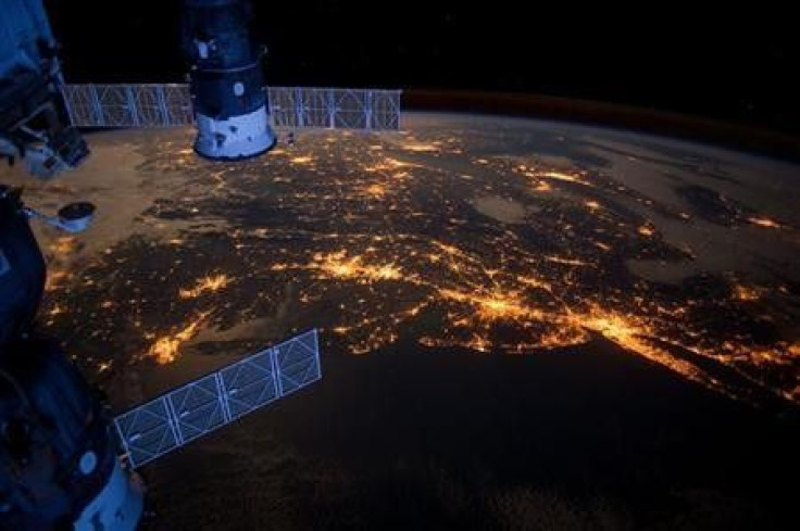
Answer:
MULTIPOLYGON (((397 130, 399 90, 270 87, 275 127, 397 130)), ((195 116, 188 85, 67 85, 63 89, 78 127, 174 127, 195 116)))

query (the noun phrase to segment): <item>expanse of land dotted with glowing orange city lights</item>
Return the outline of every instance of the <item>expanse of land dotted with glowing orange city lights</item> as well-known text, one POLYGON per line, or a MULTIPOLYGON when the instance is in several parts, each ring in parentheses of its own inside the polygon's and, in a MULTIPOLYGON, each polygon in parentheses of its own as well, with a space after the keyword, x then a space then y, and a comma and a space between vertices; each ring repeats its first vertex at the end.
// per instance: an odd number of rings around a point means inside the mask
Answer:
MULTIPOLYGON (((613 168, 473 156, 470 137, 436 130, 308 134, 236 164, 202 161, 185 135, 171 135, 147 147, 155 155, 138 169, 177 176, 174 195, 157 198, 130 238, 50 273, 47 325, 97 340, 84 359, 97 371, 172 363, 202 333, 212 341, 242 321, 282 332, 314 323, 353 355, 397 342, 568 355, 604 338, 735 399, 800 400, 790 280, 632 273, 711 252, 667 238, 664 220, 797 250, 784 220, 724 195, 711 197, 715 218, 702 219, 690 206, 707 206, 705 189, 682 191, 682 208, 613 168)), ((50 245, 68 255, 80 239, 50 245)), ((253 344, 277 332, 265 333, 253 344)))

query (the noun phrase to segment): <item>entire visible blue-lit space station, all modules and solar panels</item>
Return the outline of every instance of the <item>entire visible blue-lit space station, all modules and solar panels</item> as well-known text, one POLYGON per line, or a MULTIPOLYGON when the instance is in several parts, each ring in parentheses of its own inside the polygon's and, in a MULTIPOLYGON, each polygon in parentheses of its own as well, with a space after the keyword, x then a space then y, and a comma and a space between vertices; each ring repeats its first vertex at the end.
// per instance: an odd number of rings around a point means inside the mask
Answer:
MULTIPOLYGON (((193 124, 196 151, 217 160, 268 151, 273 125, 398 129, 397 90, 267 89, 249 1, 184 4, 188 87, 65 85, 42 0, 0 0, 0 160, 42 177, 74 168, 89 153, 76 127, 193 124)), ((322 379, 312 329, 113 417, 76 356, 36 326, 47 267, 30 220, 76 233, 93 212, 43 214, 0 184, 0 531, 134 531, 139 467, 322 379)))

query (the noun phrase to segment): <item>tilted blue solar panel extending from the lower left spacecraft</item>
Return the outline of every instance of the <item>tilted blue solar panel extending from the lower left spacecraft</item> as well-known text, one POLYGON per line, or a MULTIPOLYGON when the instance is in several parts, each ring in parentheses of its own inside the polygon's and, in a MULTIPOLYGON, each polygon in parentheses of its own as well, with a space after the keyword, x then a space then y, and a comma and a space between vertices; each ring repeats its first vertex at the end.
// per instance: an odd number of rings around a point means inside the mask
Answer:
POLYGON ((140 467, 322 378, 316 330, 246 357, 114 419, 140 467))

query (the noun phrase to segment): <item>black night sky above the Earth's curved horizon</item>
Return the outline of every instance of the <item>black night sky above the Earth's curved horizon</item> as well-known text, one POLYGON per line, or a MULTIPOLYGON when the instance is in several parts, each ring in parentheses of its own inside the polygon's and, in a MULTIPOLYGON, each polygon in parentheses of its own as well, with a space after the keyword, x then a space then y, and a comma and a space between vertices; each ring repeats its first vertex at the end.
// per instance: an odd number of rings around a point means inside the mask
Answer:
MULTIPOLYGON (((46 3, 68 80, 183 80, 178 0, 46 3)), ((529 92, 800 132, 788 8, 559 3, 255 0, 255 30, 272 85, 529 92)))

